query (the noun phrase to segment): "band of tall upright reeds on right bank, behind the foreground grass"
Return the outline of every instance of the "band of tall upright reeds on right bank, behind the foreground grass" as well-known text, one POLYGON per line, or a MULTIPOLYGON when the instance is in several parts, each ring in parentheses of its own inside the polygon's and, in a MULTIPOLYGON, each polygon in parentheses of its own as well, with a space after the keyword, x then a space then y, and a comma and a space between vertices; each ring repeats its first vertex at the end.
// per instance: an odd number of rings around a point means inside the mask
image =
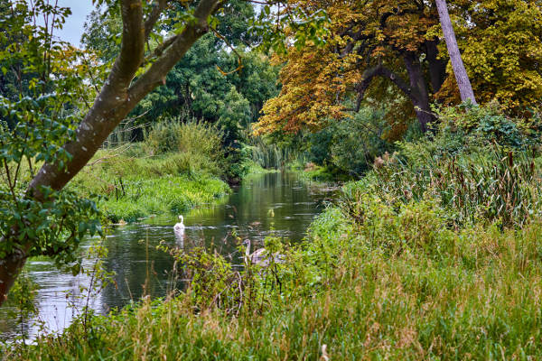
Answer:
POLYGON ((355 208, 361 200, 354 199, 367 193, 397 207, 436 199, 455 223, 499 221, 503 227, 522 227, 540 211, 540 171, 535 162, 530 151, 513 153, 500 147, 424 162, 388 157, 365 180, 349 186, 352 199, 345 204, 355 208))

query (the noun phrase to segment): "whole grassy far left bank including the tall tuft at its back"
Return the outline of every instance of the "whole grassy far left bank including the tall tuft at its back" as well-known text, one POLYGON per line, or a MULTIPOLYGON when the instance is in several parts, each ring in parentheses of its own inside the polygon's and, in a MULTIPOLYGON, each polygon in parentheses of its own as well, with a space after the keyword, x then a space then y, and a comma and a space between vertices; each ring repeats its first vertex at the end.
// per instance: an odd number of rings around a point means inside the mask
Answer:
POLYGON ((222 134, 201 122, 163 122, 143 143, 99 151, 70 182, 114 223, 150 215, 178 214, 229 193, 223 181, 232 164, 222 134))

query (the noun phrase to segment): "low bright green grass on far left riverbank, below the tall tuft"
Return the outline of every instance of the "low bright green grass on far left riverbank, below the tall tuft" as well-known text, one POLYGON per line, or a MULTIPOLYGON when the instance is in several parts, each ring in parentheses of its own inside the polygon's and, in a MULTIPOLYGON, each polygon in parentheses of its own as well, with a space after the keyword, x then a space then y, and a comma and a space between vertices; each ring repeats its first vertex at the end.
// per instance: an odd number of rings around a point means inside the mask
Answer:
POLYGON ((135 150, 101 150, 70 183, 112 223, 135 222, 152 215, 177 215, 230 192, 215 164, 189 153, 150 157, 135 150))

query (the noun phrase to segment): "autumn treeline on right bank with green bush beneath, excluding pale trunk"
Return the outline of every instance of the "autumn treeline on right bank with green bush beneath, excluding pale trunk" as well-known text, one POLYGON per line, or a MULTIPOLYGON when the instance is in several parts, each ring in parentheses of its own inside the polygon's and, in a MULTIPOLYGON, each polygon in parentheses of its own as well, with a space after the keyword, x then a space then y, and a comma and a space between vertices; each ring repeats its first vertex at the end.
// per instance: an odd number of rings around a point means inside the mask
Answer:
MULTIPOLYGON (((294 1, 309 11, 313 2, 294 1)), ((434 2, 320 4, 325 44, 275 55, 281 92, 266 102, 257 134, 271 134, 305 162, 360 177, 394 143, 435 132, 439 110, 458 105, 434 2), (416 135, 417 134, 417 135, 416 135)), ((542 98, 542 8, 535 1, 448 1, 476 99, 513 123, 537 127, 542 98)))

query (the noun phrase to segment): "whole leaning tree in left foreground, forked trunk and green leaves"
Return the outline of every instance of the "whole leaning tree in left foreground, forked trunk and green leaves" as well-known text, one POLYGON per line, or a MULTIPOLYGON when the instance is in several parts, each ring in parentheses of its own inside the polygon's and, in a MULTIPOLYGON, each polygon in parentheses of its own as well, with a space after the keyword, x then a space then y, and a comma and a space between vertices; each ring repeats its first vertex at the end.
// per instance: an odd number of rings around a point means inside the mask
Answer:
MULTIPOLYGON (((94 3, 118 6, 122 36, 117 57, 107 71, 103 86, 96 89, 91 106, 87 94, 93 87, 74 91, 88 84, 81 79, 81 74, 89 71, 85 59, 69 62, 70 57, 64 51, 70 47, 54 42, 51 36, 52 29, 61 27, 70 9, 50 5, 48 0, 34 0, 30 4, 26 0, 9 0, 11 10, 23 13, 23 21, 15 27, 0 25, 13 33, 25 30, 32 35, 29 37, 32 41, 25 45, 27 56, 23 60, 30 66, 25 69, 45 67, 45 75, 57 71, 57 65, 62 69, 54 77, 40 81, 31 77, 32 97, 10 100, 0 95, 0 116, 14 122, 13 129, 0 124, 0 164, 5 169, 2 174, 5 182, 0 183, 0 305, 29 256, 48 255, 58 263, 72 263, 77 261, 74 251, 82 236, 99 232, 94 202, 80 199, 64 187, 135 106, 164 85, 168 72, 194 42, 210 32, 211 26, 216 26, 214 15, 229 2, 96 0, 94 3), (173 22, 164 20, 168 12, 177 12, 173 22), (41 14, 51 15, 46 17, 51 22, 46 21, 45 26, 37 24, 36 16, 41 14), (164 26, 171 26, 170 36, 166 38, 164 26), (151 40, 153 45, 147 46, 151 40), (89 110, 79 109, 78 101, 88 104, 89 110), (30 176, 21 181, 18 177, 23 161, 28 161, 30 176), (35 162, 42 164, 38 172, 33 171, 35 162)), ((8 15, 0 21, 7 19, 9 23, 12 17, 8 15)), ((308 38, 316 37, 308 34, 308 38)), ((8 58, 18 56, 14 46, 8 46, 4 54, 8 58)), ((78 271, 77 264, 73 270, 78 271)))

